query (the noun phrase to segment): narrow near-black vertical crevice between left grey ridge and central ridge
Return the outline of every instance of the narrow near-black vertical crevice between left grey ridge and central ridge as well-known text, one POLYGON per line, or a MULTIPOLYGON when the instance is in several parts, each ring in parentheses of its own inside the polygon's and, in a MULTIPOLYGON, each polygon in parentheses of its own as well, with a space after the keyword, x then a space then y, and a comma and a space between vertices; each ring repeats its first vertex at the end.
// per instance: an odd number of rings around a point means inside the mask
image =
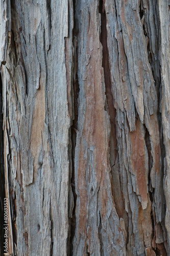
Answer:
POLYGON ((74 70, 73 70, 73 95, 74 95, 74 120, 72 120, 71 125, 71 158, 72 158, 72 174, 71 174, 71 188, 72 194, 74 196, 74 208, 72 209, 72 218, 70 219, 70 240, 69 240, 69 255, 73 255, 73 240, 75 237, 75 229, 76 229, 76 185, 75 185, 75 148, 76 148, 76 138, 77 138, 77 125, 78 125, 78 110, 79 110, 79 80, 77 73, 77 35, 78 31, 76 30, 76 0, 73 0, 74 7, 74 28, 73 28, 73 37, 72 37, 72 45, 74 46, 74 70))

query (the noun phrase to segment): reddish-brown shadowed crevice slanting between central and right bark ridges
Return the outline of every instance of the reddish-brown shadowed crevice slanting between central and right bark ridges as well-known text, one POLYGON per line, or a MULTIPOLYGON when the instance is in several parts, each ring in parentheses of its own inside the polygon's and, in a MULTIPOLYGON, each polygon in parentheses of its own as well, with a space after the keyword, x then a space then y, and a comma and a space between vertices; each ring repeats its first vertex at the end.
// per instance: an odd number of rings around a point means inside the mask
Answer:
MULTIPOLYGON (((117 154, 116 120, 115 120, 116 110, 114 108, 114 98, 112 94, 111 71, 110 71, 109 51, 108 51, 108 43, 107 43, 107 20, 106 20, 105 5, 103 0, 101 0, 99 4, 99 13, 101 13, 100 40, 101 40, 102 49, 103 49, 102 67, 104 69, 104 80, 105 80, 105 88, 106 88, 105 108, 110 117, 110 141, 109 141, 110 154, 109 156, 110 156, 110 166, 112 169, 111 176, 110 176, 111 189, 112 189, 112 196, 115 203, 117 215, 119 219, 120 218, 124 219, 126 231, 128 233, 128 224, 127 224, 128 215, 125 210, 123 195, 120 188, 121 184, 120 184, 120 177, 119 177, 120 173, 119 173, 119 159, 117 154)), ((126 241, 126 243, 127 242, 128 240, 126 241)))

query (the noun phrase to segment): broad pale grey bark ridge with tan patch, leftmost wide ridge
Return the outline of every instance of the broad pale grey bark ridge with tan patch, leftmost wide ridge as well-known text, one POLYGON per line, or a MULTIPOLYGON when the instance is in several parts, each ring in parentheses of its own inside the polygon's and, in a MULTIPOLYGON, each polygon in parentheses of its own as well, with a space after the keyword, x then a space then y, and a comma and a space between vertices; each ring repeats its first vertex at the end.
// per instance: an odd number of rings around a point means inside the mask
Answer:
POLYGON ((71 1, 12 3, 3 97, 18 255, 68 254, 71 15, 71 1))

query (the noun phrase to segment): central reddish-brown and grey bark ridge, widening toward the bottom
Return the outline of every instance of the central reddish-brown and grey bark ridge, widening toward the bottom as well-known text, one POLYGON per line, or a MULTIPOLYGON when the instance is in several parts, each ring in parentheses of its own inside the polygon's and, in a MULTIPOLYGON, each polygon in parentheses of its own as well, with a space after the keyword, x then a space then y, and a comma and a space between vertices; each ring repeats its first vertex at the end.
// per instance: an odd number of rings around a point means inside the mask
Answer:
POLYGON ((80 106, 75 155, 74 255, 125 255, 124 221, 119 221, 111 191, 110 120, 102 67, 99 2, 76 1, 76 22, 80 106))

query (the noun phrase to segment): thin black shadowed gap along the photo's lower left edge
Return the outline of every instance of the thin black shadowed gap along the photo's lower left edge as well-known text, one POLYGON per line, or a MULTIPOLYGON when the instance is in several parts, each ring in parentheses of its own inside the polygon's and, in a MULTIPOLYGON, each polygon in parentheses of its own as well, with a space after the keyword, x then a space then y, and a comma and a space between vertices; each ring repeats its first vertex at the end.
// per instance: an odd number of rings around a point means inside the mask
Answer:
POLYGON ((0 73, 0 254, 3 255, 4 244, 4 198, 5 198, 5 169, 4 169, 4 131, 3 131, 3 97, 2 75, 0 73))

